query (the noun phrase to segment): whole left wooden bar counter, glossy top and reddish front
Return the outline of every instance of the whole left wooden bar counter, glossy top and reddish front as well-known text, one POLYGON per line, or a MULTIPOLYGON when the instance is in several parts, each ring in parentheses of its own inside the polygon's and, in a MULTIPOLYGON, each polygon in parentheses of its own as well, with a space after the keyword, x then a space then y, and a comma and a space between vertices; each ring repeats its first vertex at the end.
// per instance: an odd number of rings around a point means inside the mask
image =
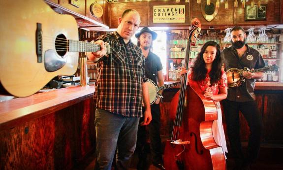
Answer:
POLYGON ((95 147, 94 86, 0 102, 0 170, 70 170, 95 147))

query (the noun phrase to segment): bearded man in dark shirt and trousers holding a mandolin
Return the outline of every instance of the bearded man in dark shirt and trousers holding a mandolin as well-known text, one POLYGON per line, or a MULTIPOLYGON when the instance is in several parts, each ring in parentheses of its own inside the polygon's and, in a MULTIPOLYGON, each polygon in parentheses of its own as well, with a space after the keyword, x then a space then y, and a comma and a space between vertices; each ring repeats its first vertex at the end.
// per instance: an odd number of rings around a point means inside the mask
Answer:
MULTIPOLYGON (((225 71, 230 68, 243 69, 247 67, 253 70, 265 67, 260 53, 246 44, 246 36, 242 27, 235 26, 232 28, 232 46, 223 49, 221 52, 225 71)), ((261 79, 264 74, 263 71, 244 71, 243 76, 246 81, 240 86, 229 88, 228 96, 222 102, 227 124, 227 135, 235 160, 234 170, 250 170, 251 164, 259 153, 263 123, 255 102, 254 83, 256 79, 261 79), (239 111, 244 115, 250 127, 247 154, 243 153, 241 146, 239 111)))

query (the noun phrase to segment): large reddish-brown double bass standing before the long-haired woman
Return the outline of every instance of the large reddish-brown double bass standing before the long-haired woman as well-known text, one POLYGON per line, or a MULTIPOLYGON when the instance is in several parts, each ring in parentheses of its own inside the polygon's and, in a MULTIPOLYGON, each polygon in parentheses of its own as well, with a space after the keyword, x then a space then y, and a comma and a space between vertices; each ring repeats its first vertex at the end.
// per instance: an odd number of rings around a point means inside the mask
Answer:
MULTIPOLYGON (((190 46, 200 34, 201 24, 193 19, 188 37, 185 68, 189 69, 190 46)), ((217 107, 203 96, 197 82, 183 75, 180 91, 171 102, 171 117, 175 116, 172 136, 165 143, 166 170, 226 170, 223 150, 213 138, 213 122, 217 121, 217 107)))

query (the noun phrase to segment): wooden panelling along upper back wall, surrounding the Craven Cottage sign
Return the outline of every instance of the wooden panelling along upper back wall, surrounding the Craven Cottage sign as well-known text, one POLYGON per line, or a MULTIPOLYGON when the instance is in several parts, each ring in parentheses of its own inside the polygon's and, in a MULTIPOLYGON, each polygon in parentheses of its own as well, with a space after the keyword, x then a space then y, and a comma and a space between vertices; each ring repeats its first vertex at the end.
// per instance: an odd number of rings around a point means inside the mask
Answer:
MULTIPOLYGON (((216 0, 212 0, 212 3, 216 3, 216 0)), ((283 13, 282 2, 281 0, 261 0, 262 4, 267 4, 266 10, 266 20, 264 21, 245 21, 245 9, 242 8, 241 1, 238 0, 238 7, 234 8, 234 1, 228 0, 228 9, 224 8, 224 2, 220 2, 220 8, 216 17, 208 22, 205 20, 201 13, 201 8, 204 9, 206 0, 201 0, 201 4, 198 4, 196 0, 190 0, 189 3, 181 1, 176 3, 175 0, 151 0, 151 1, 136 1, 136 2, 119 2, 110 4, 110 27, 116 28, 118 26, 117 21, 118 17, 121 16, 122 12, 125 9, 133 8, 139 11, 142 18, 141 26, 150 26, 150 27, 174 27, 174 26, 189 26, 190 20, 192 18, 198 18, 201 21, 203 26, 214 26, 218 29, 219 26, 221 29, 229 27, 232 25, 271 25, 271 24, 280 24, 282 23, 283 13), (175 5, 175 4, 185 4, 186 5, 186 23, 153 23, 153 6, 154 5, 175 5), (116 14, 116 16, 113 16, 116 14), (146 19, 149 19, 148 21, 146 19)), ((251 2, 246 2, 250 4, 251 2)), ((257 3, 257 1, 255 1, 257 3)))

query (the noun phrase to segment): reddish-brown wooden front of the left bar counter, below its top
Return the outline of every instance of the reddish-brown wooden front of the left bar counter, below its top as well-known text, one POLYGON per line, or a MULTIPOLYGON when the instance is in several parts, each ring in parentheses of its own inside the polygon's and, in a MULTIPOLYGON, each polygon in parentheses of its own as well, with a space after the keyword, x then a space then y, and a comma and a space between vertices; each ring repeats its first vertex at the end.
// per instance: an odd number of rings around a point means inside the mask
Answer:
POLYGON ((0 131, 1 170, 70 170, 95 147, 94 102, 89 97, 0 131))

